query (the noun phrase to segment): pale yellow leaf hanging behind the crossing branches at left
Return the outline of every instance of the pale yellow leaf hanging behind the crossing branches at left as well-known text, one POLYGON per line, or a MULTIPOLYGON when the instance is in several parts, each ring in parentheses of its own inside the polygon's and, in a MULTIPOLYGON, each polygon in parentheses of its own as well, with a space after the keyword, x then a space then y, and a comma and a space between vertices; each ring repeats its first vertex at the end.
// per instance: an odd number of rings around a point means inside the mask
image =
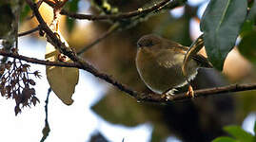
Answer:
MULTIPOLYGON (((65 42, 67 46, 69 44, 62 38, 62 42, 65 42)), ((58 62, 60 52, 55 49, 51 44, 46 46, 46 60, 50 62, 58 62)), ((72 62, 67 57, 65 62, 72 62)), ((72 104, 72 95, 75 90, 75 85, 79 79, 79 70, 77 68, 70 67, 58 67, 58 66, 47 66, 47 79, 49 81, 50 88, 55 95, 67 105, 72 104)))

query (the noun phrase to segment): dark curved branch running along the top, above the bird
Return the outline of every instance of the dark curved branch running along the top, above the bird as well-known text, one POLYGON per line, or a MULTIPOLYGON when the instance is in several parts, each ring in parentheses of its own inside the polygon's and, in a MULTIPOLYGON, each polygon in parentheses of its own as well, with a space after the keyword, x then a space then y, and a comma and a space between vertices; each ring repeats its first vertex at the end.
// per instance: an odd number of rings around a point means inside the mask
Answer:
POLYGON ((149 12, 152 12, 154 10, 161 10, 164 8, 164 6, 167 6, 167 8, 175 8, 178 6, 181 6, 182 4, 184 4, 186 2, 186 0, 172 0, 170 2, 170 0, 163 0, 162 2, 148 8, 148 9, 137 9, 134 11, 129 11, 129 12, 125 12, 125 13, 118 13, 118 14, 113 14, 113 15, 90 15, 90 14, 78 14, 78 13, 72 13, 72 12, 68 12, 66 10, 62 10, 61 14, 69 16, 70 18, 74 18, 74 19, 87 19, 87 20, 124 20, 124 19, 128 19, 134 16, 138 16, 141 14, 147 14, 149 12))

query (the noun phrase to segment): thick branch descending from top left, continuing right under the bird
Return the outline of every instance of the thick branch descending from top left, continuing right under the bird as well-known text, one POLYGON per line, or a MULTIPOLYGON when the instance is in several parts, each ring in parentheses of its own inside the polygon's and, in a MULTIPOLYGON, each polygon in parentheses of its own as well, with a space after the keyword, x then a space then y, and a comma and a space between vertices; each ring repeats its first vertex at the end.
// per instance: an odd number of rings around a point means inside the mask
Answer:
MULTIPOLYGON (((173 102, 178 100, 185 100, 187 98, 190 98, 186 96, 186 93, 175 95, 173 97, 163 97, 161 95, 157 94, 142 94, 138 93, 137 91, 134 91, 125 84, 122 84, 118 82, 117 80, 113 80, 110 76, 107 74, 99 72, 96 68, 94 68, 92 65, 90 65, 88 62, 85 62, 83 59, 78 57, 72 49, 67 47, 64 43, 62 43, 57 35, 53 33, 46 22, 43 20, 41 14, 39 13, 36 5, 31 0, 26 0, 26 2, 29 4, 30 8, 33 10, 34 15, 36 16, 37 21, 40 23, 40 27, 42 27, 42 30, 45 31, 47 34, 47 38, 50 44, 54 45, 57 49, 59 49, 63 54, 69 57, 73 61, 73 63, 64 63, 67 65, 67 67, 74 67, 77 66, 77 68, 83 69, 91 73, 97 78, 100 78, 102 80, 107 81, 108 83, 112 84, 116 88, 118 88, 120 91, 126 92, 130 97, 136 98, 140 101, 151 101, 151 102, 173 102), (69 64, 69 65, 68 65, 69 64)), ((24 58, 24 57, 23 57, 24 58)), ((45 63, 45 62, 41 62, 45 63)), ((54 62, 56 63, 56 62, 54 62)), ((59 62, 60 63, 60 62, 59 62)), ((195 91, 195 98, 199 97, 205 97, 205 96, 211 96, 215 94, 220 93, 226 93, 226 92, 239 92, 239 91, 246 91, 246 90, 253 90, 256 89, 256 83, 254 84, 234 84, 224 87, 217 87, 217 88, 210 88, 210 89, 201 89, 195 91)))

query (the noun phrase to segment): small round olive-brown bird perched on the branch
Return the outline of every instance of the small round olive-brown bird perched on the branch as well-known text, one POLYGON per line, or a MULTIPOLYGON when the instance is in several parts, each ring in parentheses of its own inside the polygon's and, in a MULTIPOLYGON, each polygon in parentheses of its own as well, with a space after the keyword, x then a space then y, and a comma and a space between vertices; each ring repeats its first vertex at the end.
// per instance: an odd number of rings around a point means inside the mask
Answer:
MULTIPOLYGON (((198 68, 212 68, 207 57, 198 53, 202 40, 190 48, 156 34, 148 34, 137 42, 136 68, 148 88, 160 95, 174 95, 197 75, 198 68)), ((187 95, 194 98, 188 85, 187 95)))

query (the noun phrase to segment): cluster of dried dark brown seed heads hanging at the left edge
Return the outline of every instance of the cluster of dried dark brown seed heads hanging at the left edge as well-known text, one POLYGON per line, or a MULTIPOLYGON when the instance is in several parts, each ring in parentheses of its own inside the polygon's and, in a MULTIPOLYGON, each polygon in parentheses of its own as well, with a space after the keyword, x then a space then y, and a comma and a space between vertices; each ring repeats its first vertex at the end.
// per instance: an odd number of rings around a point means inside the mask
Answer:
MULTIPOLYGON (((12 52, 17 54, 16 49, 12 49, 12 52)), ((31 104, 35 106, 39 102, 32 87, 35 85, 35 81, 30 78, 30 75, 36 78, 41 76, 39 71, 30 72, 30 64, 13 59, 1 64, 0 74, 1 96, 15 100, 15 115, 21 113, 21 108, 30 107, 31 104)))

